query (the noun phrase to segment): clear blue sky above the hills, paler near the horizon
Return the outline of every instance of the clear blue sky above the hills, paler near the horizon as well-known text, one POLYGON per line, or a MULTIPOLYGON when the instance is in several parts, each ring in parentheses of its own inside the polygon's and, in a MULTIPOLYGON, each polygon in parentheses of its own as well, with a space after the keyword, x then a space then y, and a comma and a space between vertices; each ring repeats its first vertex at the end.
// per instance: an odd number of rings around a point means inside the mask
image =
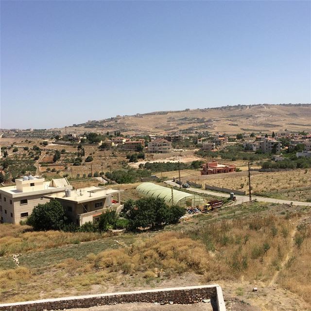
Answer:
POLYGON ((1 128, 311 102, 310 1, 1 1, 1 128))

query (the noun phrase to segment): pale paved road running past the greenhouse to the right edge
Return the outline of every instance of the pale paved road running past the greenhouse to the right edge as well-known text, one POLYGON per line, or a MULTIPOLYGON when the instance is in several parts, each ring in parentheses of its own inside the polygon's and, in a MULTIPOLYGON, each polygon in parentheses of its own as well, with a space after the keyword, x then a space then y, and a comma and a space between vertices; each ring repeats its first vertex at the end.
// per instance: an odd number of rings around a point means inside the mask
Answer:
MULTIPOLYGON (((177 183, 174 183, 171 180, 165 181, 166 184, 171 185, 171 186, 179 186, 177 183)), ((198 188, 188 188, 188 190, 198 192, 198 193, 206 193, 209 195, 214 195, 214 196, 219 196, 219 197, 224 197, 228 198, 230 197, 229 193, 222 193, 222 192, 216 192, 216 191, 210 191, 210 190, 202 190, 198 188)), ((236 195, 237 198, 237 204, 240 204, 242 202, 248 202, 249 198, 247 195, 236 195)), ((279 199, 274 199, 274 198, 266 198, 258 195, 252 195, 253 200, 257 200, 258 202, 270 202, 270 203, 278 203, 278 204, 291 204, 293 202, 293 205, 301 205, 301 206, 310 206, 311 207, 311 202, 298 202, 298 201, 288 201, 288 200, 279 200, 279 199)))

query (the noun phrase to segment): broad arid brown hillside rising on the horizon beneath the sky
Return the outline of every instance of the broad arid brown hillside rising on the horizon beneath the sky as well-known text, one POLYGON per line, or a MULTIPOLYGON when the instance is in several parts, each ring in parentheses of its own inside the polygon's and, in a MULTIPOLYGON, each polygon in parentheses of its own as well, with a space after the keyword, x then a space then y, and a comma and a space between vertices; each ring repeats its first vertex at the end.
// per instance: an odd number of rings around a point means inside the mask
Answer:
MULTIPOLYGON (((159 111, 135 116, 87 121, 69 132, 121 131, 122 134, 165 134, 182 131, 213 133, 310 131, 311 104, 238 105, 183 111, 159 111)), ((65 128, 60 129, 65 132, 65 128)))

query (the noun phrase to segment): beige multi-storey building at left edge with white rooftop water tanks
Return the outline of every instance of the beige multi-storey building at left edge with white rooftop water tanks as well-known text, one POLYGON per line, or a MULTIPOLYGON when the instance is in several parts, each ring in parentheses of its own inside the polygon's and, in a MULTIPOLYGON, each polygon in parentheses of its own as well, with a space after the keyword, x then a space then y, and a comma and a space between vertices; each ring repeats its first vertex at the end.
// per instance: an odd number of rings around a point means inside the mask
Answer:
POLYGON ((49 202, 45 195, 72 189, 67 178, 45 181, 44 178, 30 175, 15 182, 15 186, 0 188, 1 223, 18 224, 27 219, 36 205, 49 202))

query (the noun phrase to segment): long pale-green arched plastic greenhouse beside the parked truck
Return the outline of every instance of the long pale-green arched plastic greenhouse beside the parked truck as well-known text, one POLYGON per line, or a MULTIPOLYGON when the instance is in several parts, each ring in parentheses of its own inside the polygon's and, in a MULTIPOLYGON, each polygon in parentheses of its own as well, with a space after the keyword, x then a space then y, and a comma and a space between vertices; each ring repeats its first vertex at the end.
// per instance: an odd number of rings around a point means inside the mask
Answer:
POLYGON ((153 183, 141 183, 136 190, 140 194, 161 198, 168 205, 178 205, 180 207, 198 207, 205 204, 204 199, 199 195, 190 194, 184 191, 174 190, 153 183))

